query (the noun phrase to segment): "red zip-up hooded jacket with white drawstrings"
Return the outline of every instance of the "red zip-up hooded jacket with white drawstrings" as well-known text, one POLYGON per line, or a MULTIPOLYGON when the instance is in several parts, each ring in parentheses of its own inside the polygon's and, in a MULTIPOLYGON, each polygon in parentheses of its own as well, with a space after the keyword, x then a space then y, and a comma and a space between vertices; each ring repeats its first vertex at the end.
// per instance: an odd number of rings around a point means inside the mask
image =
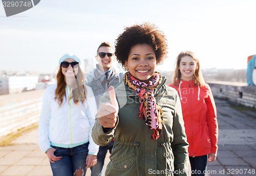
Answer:
POLYGON ((217 110, 210 86, 199 87, 193 80, 178 80, 176 86, 169 86, 178 91, 181 99, 189 157, 217 153, 217 110))

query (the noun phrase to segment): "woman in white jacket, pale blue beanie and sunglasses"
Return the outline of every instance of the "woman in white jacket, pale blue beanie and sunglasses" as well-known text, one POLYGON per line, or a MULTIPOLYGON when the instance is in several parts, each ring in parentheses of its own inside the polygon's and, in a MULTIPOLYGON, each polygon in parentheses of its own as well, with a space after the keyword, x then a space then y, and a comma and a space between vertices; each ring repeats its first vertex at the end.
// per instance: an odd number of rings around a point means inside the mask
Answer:
POLYGON ((79 63, 74 54, 59 59, 57 85, 47 87, 42 102, 39 145, 54 176, 85 175, 97 162, 99 146, 91 137, 97 105, 79 63))

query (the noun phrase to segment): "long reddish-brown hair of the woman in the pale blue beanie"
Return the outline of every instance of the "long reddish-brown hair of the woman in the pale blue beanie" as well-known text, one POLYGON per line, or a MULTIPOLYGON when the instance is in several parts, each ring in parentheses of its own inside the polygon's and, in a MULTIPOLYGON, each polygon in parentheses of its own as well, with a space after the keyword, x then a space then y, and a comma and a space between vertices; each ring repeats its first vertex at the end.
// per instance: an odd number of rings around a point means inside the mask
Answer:
MULTIPOLYGON (((59 106, 61 106, 64 96, 67 100, 67 97, 66 97, 67 83, 66 83, 65 75, 62 74, 61 65, 59 66, 59 70, 56 78, 57 78, 57 88, 55 90, 55 100, 58 99, 58 104, 59 106)), ((84 100, 86 100, 86 94, 87 94, 86 87, 84 86, 84 83, 83 83, 84 76, 79 66, 78 66, 78 73, 75 79, 76 79, 77 87, 73 89, 72 91, 73 95, 72 97, 70 97, 70 99, 74 98, 74 103, 76 105, 79 105, 79 100, 82 103, 84 103, 84 100)))

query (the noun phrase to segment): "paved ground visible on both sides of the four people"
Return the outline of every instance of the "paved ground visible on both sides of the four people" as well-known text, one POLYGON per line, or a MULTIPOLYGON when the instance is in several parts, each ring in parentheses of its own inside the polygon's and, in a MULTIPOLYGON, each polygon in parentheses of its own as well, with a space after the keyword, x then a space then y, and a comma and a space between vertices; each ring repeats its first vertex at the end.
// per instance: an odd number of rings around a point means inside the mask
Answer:
MULTIPOLYGON (((256 113, 232 109, 224 100, 216 99, 216 105, 219 152, 217 161, 208 163, 208 175, 256 175, 256 113)), ((0 175, 52 175, 37 144, 36 129, 18 137, 12 146, 0 147, 0 175)))

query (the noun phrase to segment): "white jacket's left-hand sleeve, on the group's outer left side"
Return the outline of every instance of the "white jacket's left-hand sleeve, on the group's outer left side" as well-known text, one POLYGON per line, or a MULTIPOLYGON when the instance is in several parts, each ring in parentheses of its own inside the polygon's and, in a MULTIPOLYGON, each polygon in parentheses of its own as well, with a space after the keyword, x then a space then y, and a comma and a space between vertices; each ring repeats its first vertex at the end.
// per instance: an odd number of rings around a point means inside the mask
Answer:
POLYGON ((51 148, 49 139, 49 121, 51 119, 50 87, 44 93, 40 118, 38 121, 38 143, 42 151, 51 148))

